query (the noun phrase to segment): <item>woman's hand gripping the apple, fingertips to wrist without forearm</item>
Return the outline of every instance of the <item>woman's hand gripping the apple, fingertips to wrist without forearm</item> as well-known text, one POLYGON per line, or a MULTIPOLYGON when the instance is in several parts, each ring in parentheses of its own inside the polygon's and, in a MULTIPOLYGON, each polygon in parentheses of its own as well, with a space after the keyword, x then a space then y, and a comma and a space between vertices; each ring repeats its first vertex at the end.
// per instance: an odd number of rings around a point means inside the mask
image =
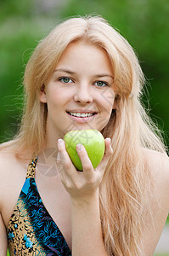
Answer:
POLYGON ((88 158, 86 149, 82 144, 76 145, 77 154, 82 161, 83 172, 77 172, 76 167, 70 160, 70 156, 65 149, 65 142, 62 139, 58 141, 59 157, 58 167, 62 183, 70 194, 70 198, 76 202, 87 202, 93 198, 99 191, 99 184, 104 176, 110 155, 113 149, 110 145, 110 138, 105 139, 104 158, 95 169, 88 158))

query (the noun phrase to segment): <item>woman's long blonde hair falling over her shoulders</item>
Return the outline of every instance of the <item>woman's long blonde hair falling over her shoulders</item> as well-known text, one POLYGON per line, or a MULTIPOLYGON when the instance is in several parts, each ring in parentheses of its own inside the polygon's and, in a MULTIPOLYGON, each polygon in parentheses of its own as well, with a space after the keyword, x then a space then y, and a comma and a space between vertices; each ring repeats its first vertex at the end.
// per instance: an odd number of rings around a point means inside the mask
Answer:
POLYGON ((114 154, 100 185, 100 212, 104 245, 109 255, 143 255, 141 228, 151 175, 144 163, 143 148, 165 152, 160 134, 140 103, 144 74, 132 47, 99 16, 65 20, 37 45, 25 67, 25 112, 14 139, 18 152, 38 152, 44 147, 47 107, 39 93, 54 72, 66 47, 85 40, 104 49, 114 72, 115 111, 104 127, 114 154))

